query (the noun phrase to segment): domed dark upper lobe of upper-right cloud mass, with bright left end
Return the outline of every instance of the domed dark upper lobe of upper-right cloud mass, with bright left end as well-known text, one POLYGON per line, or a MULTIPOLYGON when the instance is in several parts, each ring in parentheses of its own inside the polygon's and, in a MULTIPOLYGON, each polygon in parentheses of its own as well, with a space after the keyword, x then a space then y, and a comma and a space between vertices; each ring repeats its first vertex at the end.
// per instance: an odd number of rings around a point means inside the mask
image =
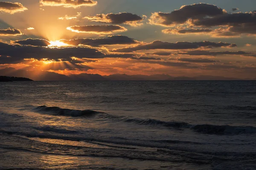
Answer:
POLYGON ((186 23, 189 19, 201 19, 204 17, 213 17, 227 13, 225 10, 215 5, 207 3, 196 3, 192 5, 181 6, 180 9, 171 13, 155 12, 151 15, 149 23, 160 26, 175 26, 186 23))

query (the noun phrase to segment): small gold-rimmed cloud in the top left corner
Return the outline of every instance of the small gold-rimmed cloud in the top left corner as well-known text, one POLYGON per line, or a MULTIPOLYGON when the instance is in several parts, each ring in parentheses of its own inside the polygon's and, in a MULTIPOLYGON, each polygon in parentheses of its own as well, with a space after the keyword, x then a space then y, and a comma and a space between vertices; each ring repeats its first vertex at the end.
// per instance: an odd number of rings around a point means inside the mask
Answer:
POLYGON ((28 10, 21 3, 0 2, 0 11, 14 14, 28 10))

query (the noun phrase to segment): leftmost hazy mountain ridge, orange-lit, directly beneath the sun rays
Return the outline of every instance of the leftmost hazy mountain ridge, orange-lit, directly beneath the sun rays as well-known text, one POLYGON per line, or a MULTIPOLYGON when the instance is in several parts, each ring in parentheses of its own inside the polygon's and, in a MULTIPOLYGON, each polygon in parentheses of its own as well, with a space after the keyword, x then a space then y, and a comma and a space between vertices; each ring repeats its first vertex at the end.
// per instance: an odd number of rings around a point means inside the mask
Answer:
POLYGON ((0 70, 1 76, 11 76, 11 77, 27 77, 35 81, 65 81, 70 80, 69 77, 63 74, 57 74, 49 71, 26 71, 17 70, 15 68, 9 67, 0 70))

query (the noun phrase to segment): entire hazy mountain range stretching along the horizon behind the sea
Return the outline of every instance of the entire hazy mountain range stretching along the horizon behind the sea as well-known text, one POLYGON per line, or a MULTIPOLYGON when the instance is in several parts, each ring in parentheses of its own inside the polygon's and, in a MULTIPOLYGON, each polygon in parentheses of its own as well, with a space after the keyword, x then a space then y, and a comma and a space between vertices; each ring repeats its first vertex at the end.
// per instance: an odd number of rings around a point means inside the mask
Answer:
MULTIPOLYGON (((26 71, 17 70, 15 68, 0 69, 0 75, 11 77, 28 77, 35 81, 105 81, 105 80, 245 80, 232 77, 221 76, 197 76, 197 77, 172 77, 168 74, 155 74, 155 75, 127 75, 127 74, 111 74, 108 76, 101 76, 99 74, 71 74, 69 76, 57 74, 49 71, 26 71)), ((256 79, 255 79, 256 80, 256 79)))

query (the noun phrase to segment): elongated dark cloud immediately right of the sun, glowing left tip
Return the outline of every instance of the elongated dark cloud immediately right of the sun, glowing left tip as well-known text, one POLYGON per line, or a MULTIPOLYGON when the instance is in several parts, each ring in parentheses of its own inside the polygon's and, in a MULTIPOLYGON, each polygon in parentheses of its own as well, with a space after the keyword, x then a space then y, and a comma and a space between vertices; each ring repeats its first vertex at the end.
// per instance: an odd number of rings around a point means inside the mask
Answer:
POLYGON ((90 45, 93 47, 98 47, 102 45, 130 45, 130 44, 140 43, 132 38, 121 36, 121 35, 109 36, 109 37, 100 38, 100 39, 84 38, 84 39, 60 40, 60 41, 69 45, 90 45))

